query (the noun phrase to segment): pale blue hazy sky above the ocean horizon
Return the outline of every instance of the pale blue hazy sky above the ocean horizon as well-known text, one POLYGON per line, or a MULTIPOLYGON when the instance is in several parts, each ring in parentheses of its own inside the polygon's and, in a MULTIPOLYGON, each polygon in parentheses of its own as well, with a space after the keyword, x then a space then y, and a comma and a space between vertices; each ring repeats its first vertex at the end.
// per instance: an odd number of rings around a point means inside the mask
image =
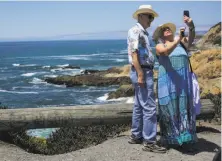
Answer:
POLYGON ((112 33, 125 34, 135 24, 132 14, 141 4, 150 4, 159 13, 150 31, 165 22, 183 26, 183 10, 190 11, 199 29, 221 21, 220 1, 0 1, 0 40, 70 37, 75 34, 81 37, 84 33, 85 36, 96 33, 111 38, 112 33))

